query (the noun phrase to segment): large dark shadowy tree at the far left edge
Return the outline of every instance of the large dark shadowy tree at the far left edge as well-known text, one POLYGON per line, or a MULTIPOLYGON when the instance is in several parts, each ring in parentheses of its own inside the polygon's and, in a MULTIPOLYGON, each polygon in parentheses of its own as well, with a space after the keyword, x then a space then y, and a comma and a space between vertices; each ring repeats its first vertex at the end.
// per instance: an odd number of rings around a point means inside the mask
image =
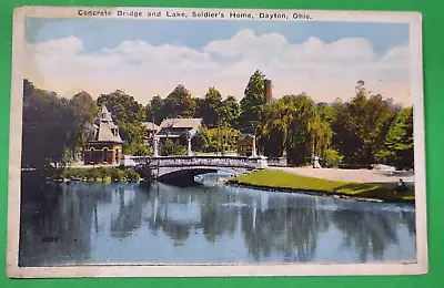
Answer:
POLYGON ((22 166, 64 165, 78 146, 82 119, 69 100, 23 80, 22 166))

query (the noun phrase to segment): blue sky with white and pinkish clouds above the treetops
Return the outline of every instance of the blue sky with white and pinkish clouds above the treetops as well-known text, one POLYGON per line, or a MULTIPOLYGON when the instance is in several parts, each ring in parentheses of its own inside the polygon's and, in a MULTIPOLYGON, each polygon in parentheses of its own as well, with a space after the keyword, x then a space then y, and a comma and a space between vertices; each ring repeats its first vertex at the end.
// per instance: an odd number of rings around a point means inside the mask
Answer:
POLYGON ((176 84, 243 96, 251 74, 273 95, 349 100, 367 90, 411 104, 408 25, 397 23, 27 19, 26 78, 39 88, 93 97, 117 89, 142 104, 176 84))

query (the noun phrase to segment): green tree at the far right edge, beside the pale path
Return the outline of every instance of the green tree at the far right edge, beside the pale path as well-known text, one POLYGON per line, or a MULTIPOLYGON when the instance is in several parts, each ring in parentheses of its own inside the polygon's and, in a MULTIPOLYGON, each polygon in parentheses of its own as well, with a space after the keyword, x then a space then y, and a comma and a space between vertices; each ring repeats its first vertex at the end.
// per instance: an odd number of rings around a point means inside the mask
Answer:
POLYGON ((400 169, 414 167, 412 106, 396 114, 376 158, 400 169))

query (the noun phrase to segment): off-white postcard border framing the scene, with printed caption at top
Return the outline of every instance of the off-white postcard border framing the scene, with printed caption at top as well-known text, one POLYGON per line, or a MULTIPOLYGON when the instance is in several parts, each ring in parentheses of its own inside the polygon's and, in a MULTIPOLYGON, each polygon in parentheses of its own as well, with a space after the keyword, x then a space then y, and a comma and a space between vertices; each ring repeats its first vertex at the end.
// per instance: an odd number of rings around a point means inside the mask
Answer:
MULTIPOLYGON (((84 18, 84 17, 83 17, 84 18)), ((91 17, 90 17, 91 18, 91 17)), ((93 18, 110 18, 95 16, 93 18)), ((112 17, 147 19, 134 17, 112 17)), ((159 19, 159 18, 158 18, 159 19)), ((160 19, 171 19, 161 17, 160 19)), ((180 18, 179 18, 180 19, 180 18)), ((181 20, 209 20, 209 18, 183 18, 181 20)), ((211 19, 211 18, 210 18, 211 19)), ((178 20, 178 19, 175 19, 178 20)), ((219 19, 221 20, 221 19, 219 19)), ((239 20, 239 19, 223 19, 239 20)), ((246 19, 249 20, 249 19, 246 19)), ((347 275, 420 275, 428 270, 426 226, 426 173, 422 68, 422 17, 417 12, 321 11, 321 10, 252 10, 252 9, 191 9, 191 8, 92 8, 92 7, 21 7, 14 10, 12 39, 12 82, 10 115, 9 196, 8 196, 8 251, 7 275, 10 278, 74 278, 74 277, 234 277, 234 276, 347 276, 347 275), (24 19, 82 18, 79 10, 118 10, 147 13, 150 11, 233 12, 252 14, 252 21, 360 21, 410 23, 411 94, 414 109, 414 163, 415 163, 415 217, 416 263, 396 264, 263 264, 263 265, 152 265, 117 264, 82 265, 65 267, 19 267, 20 227, 20 168, 22 138, 22 91, 24 53, 24 19), (307 14, 311 19, 261 20, 259 13, 307 14)))

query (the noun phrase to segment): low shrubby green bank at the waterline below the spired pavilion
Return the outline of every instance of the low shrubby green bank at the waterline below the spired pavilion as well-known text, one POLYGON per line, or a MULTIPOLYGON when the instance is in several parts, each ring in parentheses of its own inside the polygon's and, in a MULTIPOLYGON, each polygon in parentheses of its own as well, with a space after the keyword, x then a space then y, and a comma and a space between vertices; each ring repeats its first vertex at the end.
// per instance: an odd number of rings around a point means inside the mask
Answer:
POLYGON ((117 182, 140 181, 141 176, 132 168, 93 167, 67 168, 56 172, 48 181, 117 182))

